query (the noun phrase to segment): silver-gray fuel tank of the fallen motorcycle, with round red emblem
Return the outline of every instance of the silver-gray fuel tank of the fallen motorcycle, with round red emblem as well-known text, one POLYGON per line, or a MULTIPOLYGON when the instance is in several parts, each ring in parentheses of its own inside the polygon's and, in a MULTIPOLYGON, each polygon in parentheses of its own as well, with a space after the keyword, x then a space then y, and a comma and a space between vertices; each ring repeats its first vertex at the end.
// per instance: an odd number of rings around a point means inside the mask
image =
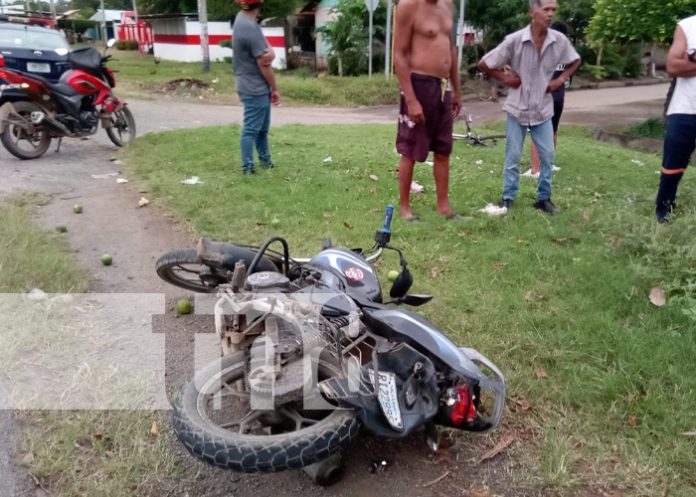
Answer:
POLYGON ((341 273, 347 294, 359 294, 372 302, 382 301, 382 288, 374 269, 355 252, 340 248, 326 249, 315 255, 310 264, 330 267, 341 273))

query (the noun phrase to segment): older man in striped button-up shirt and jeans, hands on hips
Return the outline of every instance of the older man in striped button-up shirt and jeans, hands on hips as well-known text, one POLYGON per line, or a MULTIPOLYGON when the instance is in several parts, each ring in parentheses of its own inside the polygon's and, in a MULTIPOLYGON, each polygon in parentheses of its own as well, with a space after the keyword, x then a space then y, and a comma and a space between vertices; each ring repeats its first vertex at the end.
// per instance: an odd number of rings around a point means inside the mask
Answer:
POLYGON ((548 214, 558 208, 551 202, 553 145, 553 93, 565 84, 580 65, 580 56, 568 39, 550 30, 556 15, 556 0, 529 0, 532 22, 508 35, 498 47, 486 54, 479 69, 510 87, 503 105, 507 112, 507 145, 503 168, 501 206, 510 208, 519 190, 520 157, 527 130, 539 151, 541 171, 534 207, 548 214), (555 79, 559 64, 566 69, 555 79), (510 66, 510 71, 500 68, 510 66))

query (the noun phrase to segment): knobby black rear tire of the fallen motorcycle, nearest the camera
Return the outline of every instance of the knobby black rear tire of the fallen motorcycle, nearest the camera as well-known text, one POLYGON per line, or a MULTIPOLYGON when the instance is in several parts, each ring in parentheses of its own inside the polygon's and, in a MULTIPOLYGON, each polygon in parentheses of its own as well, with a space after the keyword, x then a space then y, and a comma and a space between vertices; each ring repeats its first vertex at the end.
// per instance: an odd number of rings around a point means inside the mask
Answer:
POLYGON ((222 428, 210 430, 196 409, 196 384, 230 367, 236 361, 244 368, 244 355, 231 354, 216 361, 196 375, 179 397, 173 415, 173 427, 179 440, 194 456, 203 461, 244 473, 276 472, 299 469, 326 459, 347 447, 360 431, 354 411, 337 410, 317 424, 302 430, 271 436, 239 435, 222 428))

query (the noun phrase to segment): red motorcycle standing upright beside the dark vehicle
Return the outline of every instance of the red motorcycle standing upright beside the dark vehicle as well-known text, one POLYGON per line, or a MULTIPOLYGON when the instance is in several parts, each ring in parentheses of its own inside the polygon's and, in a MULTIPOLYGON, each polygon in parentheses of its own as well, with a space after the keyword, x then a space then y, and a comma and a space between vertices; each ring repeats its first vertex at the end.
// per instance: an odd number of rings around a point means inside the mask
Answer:
POLYGON ((132 141, 135 120, 126 103, 113 94, 116 81, 106 67, 109 58, 94 48, 74 50, 68 56, 72 69, 55 84, 0 67, 0 80, 6 82, 0 91, 23 92, 23 98, 0 106, 0 140, 7 151, 20 159, 36 159, 53 138, 60 149, 63 137, 93 135, 99 122, 116 146, 132 141))

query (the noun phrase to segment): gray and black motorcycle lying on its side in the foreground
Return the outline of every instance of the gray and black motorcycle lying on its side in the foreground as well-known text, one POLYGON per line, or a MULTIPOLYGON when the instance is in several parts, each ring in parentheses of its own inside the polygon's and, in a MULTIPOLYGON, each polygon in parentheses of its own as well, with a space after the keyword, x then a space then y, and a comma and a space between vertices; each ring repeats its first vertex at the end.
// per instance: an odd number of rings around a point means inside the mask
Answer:
POLYGON ((241 472, 304 468, 319 484, 362 426, 403 438, 436 426, 481 432, 500 422, 505 380, 486 357, 452 343, 422 316, 408 264, 390 245, 392 206, 371 255, 324 242, 293 259, 280 237, 260 248, 205 239, 162 256, 157 272, 182 288, 217 292, 222 356, 178 396, 173 426, 200 459, 241 472), (270 246, 278 243, 281 251, 270 246), (401 272, 385 299, 371 263, 385 250, 401 272))

